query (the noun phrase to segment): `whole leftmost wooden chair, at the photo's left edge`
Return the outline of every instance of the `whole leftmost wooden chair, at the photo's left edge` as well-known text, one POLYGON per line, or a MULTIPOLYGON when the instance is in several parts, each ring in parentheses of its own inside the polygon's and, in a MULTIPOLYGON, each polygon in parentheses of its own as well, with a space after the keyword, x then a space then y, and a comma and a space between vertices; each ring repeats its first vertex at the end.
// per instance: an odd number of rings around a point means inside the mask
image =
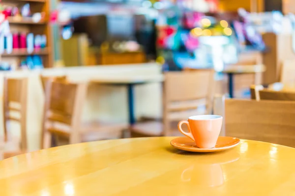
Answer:
POLYGON ((4 78, 3 125, 4 141, 1 145, 3 158, 27 151, 27 96, 28 78, 4 78), (8 122, 20 123, 20 137, 13 136, 8 122))

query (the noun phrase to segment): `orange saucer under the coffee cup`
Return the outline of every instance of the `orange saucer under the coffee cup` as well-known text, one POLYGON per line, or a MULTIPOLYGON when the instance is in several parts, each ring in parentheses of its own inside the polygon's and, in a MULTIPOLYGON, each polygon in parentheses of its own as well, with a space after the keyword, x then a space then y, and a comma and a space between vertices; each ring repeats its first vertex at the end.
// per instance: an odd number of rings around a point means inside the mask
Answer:
POLYGON ((199 148, 188 137, 175 138, 170 142, 173 147, 190 152, 217 152, 236 147, 239 143, 239 139, 225 136, 218 137, 215 147, 212 148, 199 148))

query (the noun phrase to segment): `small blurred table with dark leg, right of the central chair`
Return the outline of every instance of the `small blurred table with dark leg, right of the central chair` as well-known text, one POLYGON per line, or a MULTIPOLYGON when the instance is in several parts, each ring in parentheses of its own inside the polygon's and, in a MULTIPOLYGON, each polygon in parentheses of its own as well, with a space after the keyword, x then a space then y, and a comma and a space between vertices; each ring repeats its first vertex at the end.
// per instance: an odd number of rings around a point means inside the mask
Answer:
POLYGON ((229 96, 234 98, 234 74, 262 73, 266 71, 264 65, 232 65, 227 66, 222 73, 227 73, 229 77, 229 96))

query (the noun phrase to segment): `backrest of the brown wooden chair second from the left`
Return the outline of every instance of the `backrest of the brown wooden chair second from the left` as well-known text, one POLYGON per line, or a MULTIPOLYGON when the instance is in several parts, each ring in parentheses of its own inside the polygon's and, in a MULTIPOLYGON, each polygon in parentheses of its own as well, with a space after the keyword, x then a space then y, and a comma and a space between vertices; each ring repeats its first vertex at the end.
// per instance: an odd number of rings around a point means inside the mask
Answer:
POLYGON ((69 137, 71 143, 78 139, 86 84, 48 80, 45 88, 42 148, 50 147, 48 135, 69 137), (58 123, 59 126, 55 126, 58 123), (62 128, 60 127, 62 124, 62 128), (50 134, 49 134, 50 132, 50 134))

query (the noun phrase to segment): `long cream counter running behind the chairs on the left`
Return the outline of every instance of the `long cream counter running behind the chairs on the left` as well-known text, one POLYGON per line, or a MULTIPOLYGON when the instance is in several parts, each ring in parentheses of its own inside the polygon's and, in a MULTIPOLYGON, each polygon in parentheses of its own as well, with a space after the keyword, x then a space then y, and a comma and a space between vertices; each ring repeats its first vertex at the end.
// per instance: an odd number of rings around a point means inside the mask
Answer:
MULTIPOLYGON (((156 63, 49 68, 40 71, 0 72, 0 100, 3 100, 3 77, 29 77, 28 81, 28 148, 37 150, 40 143, 43 118, 44 93, 39 75, 66 75, 69 81, 88 82, 106 76, 160 75, 161 67, 156 63)), ((161 83, 143 84, 135 87, 135 117, 160 118, 162 110, 161 83)), ((101 119, 114 122, 128 122, 127 89, 124 86, 90 84, 83 110, 83 121, 101 119)), ((2 102, 0 103, 2 110, 2 102)), ((0 112, 0 128, 3 130, 3 115, 0 112)), ((11 123, 13 134, 19 134, 19 125, 11 123)), ((2 132, 0 133, 2 134, 2 132)))

